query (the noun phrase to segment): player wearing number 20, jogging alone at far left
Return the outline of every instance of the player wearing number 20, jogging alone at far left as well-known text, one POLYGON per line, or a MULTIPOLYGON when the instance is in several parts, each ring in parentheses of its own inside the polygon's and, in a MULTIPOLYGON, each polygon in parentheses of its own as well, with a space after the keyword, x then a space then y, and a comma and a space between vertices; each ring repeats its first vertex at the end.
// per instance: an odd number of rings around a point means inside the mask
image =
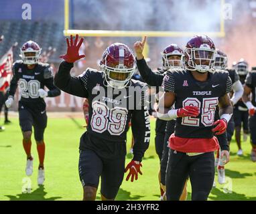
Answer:
POLYGON ((60 95, 60 90, 54 86, 52 68, 49 64, 39 62, 41 48, 35 41, 27 41, 21 47, 21 59, 13 64, 13 78, 9 88, 9 96, 5 102, 7 108, 11 107, 17 86, 21 90, 19 100, 19 125, 23 134, 23 148, 27 154, 25 173, 33 173, 33 156, 31 155, 31 134, 34 127, 39 167, 38 185, 43 185, 45 142, 44 130, 47 125, 46 102, 44 98, 60 95), (46 86, 49 90, 44 90, 46 86))

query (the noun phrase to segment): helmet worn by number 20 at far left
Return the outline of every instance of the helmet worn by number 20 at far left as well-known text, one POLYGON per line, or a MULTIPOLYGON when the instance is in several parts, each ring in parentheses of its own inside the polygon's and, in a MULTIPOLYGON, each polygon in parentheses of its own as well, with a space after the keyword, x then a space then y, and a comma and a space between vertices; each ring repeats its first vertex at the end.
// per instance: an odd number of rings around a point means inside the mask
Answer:
POLYGON ((23 64, 32 65, 37 64, 40 58, 42 48, 35 41, 27 41, 21 47, 21 54, 19 55, 23 60, 23 64))

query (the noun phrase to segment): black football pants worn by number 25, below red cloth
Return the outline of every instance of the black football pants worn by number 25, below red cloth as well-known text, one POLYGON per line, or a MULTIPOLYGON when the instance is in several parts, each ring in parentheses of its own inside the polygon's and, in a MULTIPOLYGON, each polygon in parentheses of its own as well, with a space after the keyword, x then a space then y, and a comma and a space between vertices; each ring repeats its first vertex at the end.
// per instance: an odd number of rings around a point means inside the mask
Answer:
POLYGON ((170 149, 166 171, 166 197, 178 201, 190 178, 192 201, 206 201, 214 181, 214 152, 188 156, 170 149))

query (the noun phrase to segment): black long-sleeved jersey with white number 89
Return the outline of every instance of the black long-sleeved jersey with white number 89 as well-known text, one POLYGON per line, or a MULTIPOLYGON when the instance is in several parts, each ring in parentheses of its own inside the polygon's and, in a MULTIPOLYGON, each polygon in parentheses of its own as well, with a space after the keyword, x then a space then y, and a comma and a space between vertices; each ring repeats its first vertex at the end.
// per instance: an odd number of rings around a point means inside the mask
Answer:
MULTIPOLYGON (((69 94, 88 98, 87 133, 108 142, 126 142, 131 120, 135 140, 133 154, 135 159, 140 161, 150 139, 149 112, 145 106, 146 84, 131 80, 129 87, 117 90, 107 86, 103 72, 88 68, 80 76, 71 77, 72 67, 73 64, 62 62, 54 82, 58 88, 69 94)), ((80 149, 82 148, 99 150, 99 144, 80 141, 80 149)))

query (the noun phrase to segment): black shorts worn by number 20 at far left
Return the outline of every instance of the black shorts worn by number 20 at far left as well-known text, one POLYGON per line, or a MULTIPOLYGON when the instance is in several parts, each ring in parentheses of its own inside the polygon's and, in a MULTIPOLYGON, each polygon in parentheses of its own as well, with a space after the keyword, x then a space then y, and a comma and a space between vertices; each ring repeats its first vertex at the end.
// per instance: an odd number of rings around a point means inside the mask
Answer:
POLYGON ((44 140, 44 130, 47 126, 47 115, 45 106, 33 106, 19 102, 19 126, 22 132, 32 131, 36 141, 44 140))

